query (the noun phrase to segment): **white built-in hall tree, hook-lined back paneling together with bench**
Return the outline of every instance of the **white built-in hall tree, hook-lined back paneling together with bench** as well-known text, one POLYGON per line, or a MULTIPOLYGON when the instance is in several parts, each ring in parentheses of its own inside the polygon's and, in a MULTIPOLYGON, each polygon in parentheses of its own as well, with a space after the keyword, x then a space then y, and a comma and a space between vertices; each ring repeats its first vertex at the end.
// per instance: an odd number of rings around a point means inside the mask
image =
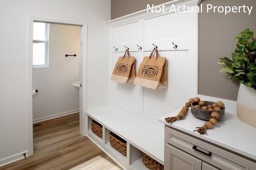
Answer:
MULTIPOLYGON (((164 5, 168 10, 172 4, 178 8, 197 6, 199 2, 174 0, 164 5)), ((88 129, 88 137, 125 169, 144 169, 142 152, 163 164, 164 126, 157 119, 184 106, 197 94, 198 13, 151 13, 143 10, 107 23, 110 27, 109 81, 104 87, 109 90, 109 105, 87 110, 86 113, 89 120, 101 123, 105 132, 113 131, 128 142, 128 157, 120 160, 119 154, 110 150, 107 136, 103 137, 102 143, 88 129), (136 58, 137 73, 143 58, 149 56, 154 48, 153 43, 158 46, 160 57, 166 57, 167 89, 152 90, 110 80, 118 57, 124 55, 125 46, 136 58), (173 43, 178 45, 176 49, 173 43), (118 50, 115 51, 114 47, 118 50)))

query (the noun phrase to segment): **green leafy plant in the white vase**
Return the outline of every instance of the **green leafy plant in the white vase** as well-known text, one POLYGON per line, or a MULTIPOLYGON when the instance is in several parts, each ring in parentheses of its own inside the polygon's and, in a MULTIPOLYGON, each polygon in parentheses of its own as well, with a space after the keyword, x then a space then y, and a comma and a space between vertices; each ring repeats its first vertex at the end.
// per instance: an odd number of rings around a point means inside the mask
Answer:
POLYGON ((245 29, 234 39, 238 39, 232 59, 219 58, 219 64, 226 64, 220 72, 230 73, 228 78, 235 78, 247 87, 256 90, 256 36, 250 29, 245 29))

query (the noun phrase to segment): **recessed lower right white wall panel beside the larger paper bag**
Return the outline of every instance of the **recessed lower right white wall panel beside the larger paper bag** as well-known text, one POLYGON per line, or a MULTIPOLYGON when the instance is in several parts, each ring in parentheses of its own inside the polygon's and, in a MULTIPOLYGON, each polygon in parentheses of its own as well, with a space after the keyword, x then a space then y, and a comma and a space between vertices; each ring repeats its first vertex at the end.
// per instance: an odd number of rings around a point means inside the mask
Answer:
POLYGON ((144 114, 160 117, 182 107, 188 101, 190 88, 188 76, 188 50, 158 51, 160 57, 166 57, 167 89, 144 89, 144 114))

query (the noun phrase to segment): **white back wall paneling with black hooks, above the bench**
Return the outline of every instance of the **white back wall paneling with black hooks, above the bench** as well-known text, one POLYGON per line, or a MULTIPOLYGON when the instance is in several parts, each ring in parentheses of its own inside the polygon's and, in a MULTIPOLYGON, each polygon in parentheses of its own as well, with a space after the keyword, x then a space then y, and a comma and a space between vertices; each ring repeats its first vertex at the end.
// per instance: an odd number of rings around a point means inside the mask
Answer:
POLYGON ((152 90, 132 83, 110 82, 110 103, 157 119, 196 96, 197 13, 170 13, 119 24, 110 27, 110 76, 118 57, 124 53, 124 45, 129 47, 131 56, 136 57, 137 71, 154 43, 160 57, 166 57, 168 89, 152 90), (178 45, 177 49, 173 43, 178 45))

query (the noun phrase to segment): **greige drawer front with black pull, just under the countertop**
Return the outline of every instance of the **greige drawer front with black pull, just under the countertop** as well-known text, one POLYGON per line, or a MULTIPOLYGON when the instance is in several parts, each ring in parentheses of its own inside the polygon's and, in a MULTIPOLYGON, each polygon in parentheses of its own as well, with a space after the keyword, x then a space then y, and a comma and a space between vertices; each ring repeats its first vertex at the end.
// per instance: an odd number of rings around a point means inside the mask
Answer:
POLYGON ((256 170, 255 162, 168 126, 165 127, 165 143, 222 170, 256 170))

